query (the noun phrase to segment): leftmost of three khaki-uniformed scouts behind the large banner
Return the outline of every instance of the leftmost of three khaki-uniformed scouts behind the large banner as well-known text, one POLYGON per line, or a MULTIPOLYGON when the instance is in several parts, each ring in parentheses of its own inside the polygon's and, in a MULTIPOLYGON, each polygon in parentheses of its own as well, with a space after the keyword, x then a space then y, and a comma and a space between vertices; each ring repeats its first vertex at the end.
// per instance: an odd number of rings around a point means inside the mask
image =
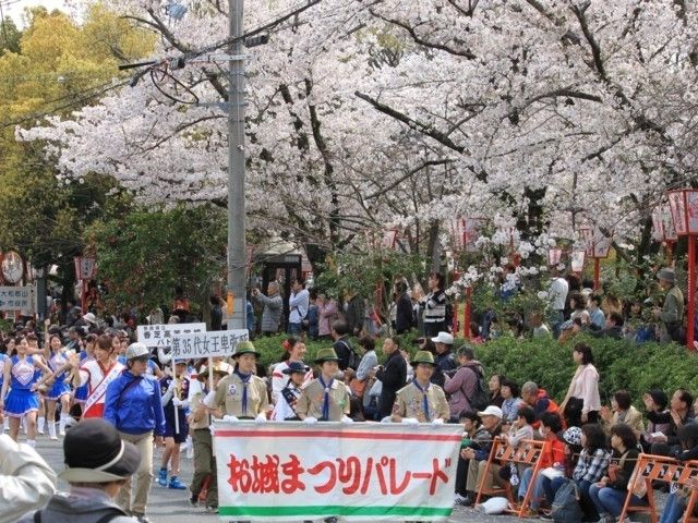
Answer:
POLYGON ((260 353, 251 341, 241 341, 236 346, 232 358, 236 361, 231 375, 220 380, 213 400, 207 406, 214 416, 226 422, 256 419, 266 422, 269 406, 268 393, 264 380, 254 375, 260 353))

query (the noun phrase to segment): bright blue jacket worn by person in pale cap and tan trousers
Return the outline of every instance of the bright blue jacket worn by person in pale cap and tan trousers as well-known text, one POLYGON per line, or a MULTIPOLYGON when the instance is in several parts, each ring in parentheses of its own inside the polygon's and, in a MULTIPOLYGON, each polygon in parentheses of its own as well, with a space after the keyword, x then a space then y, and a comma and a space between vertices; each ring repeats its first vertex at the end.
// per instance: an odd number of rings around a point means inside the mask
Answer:
POLYGON ((127 434, 165 434, 160 384, 152 376, 123 370, 107 387, 105 419, 127 434))

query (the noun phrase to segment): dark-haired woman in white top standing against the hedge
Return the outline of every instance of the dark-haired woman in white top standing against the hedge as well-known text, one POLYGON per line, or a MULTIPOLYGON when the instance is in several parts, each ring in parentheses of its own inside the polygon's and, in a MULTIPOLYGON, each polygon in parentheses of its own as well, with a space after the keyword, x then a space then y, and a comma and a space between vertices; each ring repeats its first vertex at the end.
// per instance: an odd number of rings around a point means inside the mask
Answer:
POLYGON ((597 423, 601 410, 599 394, 599 372, 593 366, 591 346, 577 343, 573 350, 573 360, 577 370, 571 378, 565 400, 559 405, 568 427, 578 427, 585 423, 597 423))

